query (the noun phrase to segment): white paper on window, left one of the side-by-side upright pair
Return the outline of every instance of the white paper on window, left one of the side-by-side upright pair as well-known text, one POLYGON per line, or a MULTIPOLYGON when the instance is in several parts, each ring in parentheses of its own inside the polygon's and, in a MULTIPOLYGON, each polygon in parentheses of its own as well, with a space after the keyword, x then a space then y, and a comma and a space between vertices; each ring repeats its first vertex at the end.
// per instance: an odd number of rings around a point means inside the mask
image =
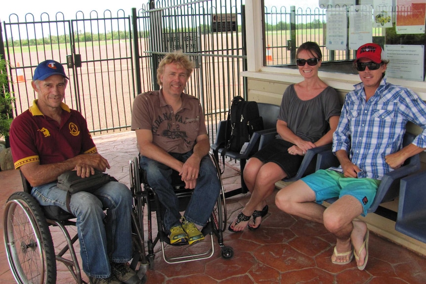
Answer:
POLYGON ((326 46, 329 50, 345 50, 347 43, 346 7, 327 9, 326 46))

